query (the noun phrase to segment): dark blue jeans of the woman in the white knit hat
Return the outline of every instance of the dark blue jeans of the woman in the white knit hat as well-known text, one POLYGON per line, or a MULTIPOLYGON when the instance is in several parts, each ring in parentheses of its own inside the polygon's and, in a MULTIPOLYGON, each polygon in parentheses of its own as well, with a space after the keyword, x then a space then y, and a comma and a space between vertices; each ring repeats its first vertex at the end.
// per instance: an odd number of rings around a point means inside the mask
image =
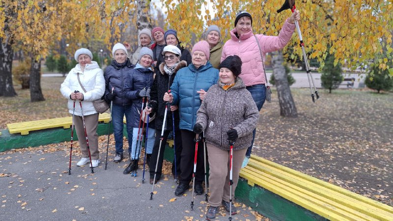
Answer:
POLYGON ((126 116, 128 152, 131 151, 132 140, 132 110, 131 105, 112 105, 112 124, 116 153, 123 153, 123 117, 126 116))

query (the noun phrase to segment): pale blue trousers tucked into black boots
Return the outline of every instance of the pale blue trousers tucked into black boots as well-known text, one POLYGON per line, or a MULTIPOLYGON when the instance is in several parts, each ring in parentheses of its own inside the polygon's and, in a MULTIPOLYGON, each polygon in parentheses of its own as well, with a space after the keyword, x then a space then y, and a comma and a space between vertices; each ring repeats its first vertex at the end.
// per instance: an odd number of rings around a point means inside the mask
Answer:
MULTIPOLYGON (((137 146, 137 138, 138 138, 138 130, 139 130, 139 140, 142 140, 142 129, 139 129, 137 127, 134 127, 133 130, 133 135, 132 135, 132 151, 131 151, 131 159, 136 160, 140 158, 140 150, 139 147, 141 147, 140 141, 138 141, 138 146, 137 146), (137 152, 137 148, 139 150, 139 153, 137 152)), ((153 146, 154 146, 154 140, 156 138, 156 129, 150 128, 147 131, 147 144, 145 147, 146 154, 151 154, 153 153, 153 146)), ((146 138, 145 138, 146 139, 146 138)))

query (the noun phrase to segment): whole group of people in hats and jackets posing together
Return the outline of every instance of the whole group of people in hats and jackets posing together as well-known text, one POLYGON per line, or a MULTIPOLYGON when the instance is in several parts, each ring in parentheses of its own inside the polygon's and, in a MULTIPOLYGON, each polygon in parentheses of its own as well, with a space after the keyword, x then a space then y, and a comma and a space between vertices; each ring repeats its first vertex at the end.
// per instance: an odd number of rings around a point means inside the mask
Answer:
MULTIPOLYGON (((263 60, 266 53, 280 50, 289 42, 295 20, 299 19, 300 15, 293 13, 278 36, 266 36, 253 34, 252 16, 242 11, 236 15, 231 38, 224 45, 220 41, 221 30, 212 25, 205 32, 205 40, 197 42, 191 53, 180 46, 175 30, 145 28, 140 31, 140 47, 133 55, 127 44, 113 46, 112 63, 104 73, 92 61, 90 51, 79 49, 75 53, 79 63, 61 84, 61 92, 68 99, 70 113, 76 100, 84 105, 83 113, 80 107, 75 109, 75 128, 78 137, 84 137, 80 119, 83 114, 92 166, 100 163, 96 133, 98 113, 92 101, 104 97, 113 103, 115 163, 123 160, 123 117, 126 117, 131 161, 123 172, 127 174, 138 166, 140 152, 136 143, 141 136, 138 132, 141 133, 142 100, 146 98, 148 104, 144 111, 150 116, 155 114, 154 121, 149 122, 146 145, 150 184, 161 179, 164 146, 173 131, 176 164, 172 166, 172 173, 179 180, 175 194, 183 195, 193 177, 195 144, 199 142, 199 146, 203 146, 202 141, 195 138, 204 136, 210 165, 210 206, 206 219, 214 220, 220 205, 234 215, 236 210, 229 201, 234 195, 240 168, 246 166, 250 158, 259 111, 265 101, 263 60), (229 141, 233 144, 233 154, 229 151, 229 141), (229 164, 231 158, 232 165, 229 164), (232 192, 228 185, 231 169, 232 192)), ((83 156, 77 166, 82 166, 89 163, 89 159, 86 141, 79 139, 79 142, 83 156)), ((203 157, 203 148, 198 148, 196 194, 203 193, 203 157)))

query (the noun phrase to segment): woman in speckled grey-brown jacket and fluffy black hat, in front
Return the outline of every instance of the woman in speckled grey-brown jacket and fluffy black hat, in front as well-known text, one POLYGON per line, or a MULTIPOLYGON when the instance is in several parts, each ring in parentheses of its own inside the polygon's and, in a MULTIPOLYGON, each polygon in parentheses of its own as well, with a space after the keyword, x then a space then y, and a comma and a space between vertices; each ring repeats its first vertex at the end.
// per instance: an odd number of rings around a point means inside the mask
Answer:
MULTIPOLYGON (((238 76, 242 61, 231 55, 220 64, 219 81, 209 88, 197 112, 194 132, 204 131, 209 158, 210 207, 207 220, 214 220, 221 204, 229 212, 229 195, 234 196, 239 172, 247 148, 253 139, 253 130, 259 118, 259 111, 251 93, 238 76), (232 155, 232 193, 229 192, 230 147, 228 140, 236 140, 232 155)), ((233 197, 232 197, 233 198, 233 197)), ((232 215, 236 209, 232 204, 232 215)))

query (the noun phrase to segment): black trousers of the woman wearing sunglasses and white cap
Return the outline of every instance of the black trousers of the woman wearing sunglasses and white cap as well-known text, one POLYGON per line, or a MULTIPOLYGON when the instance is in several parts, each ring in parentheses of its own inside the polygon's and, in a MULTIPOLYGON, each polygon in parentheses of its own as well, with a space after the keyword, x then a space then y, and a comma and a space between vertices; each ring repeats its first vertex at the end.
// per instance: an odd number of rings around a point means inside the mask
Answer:
MULTIPOLYGON (((161 149, 160 149, 160 158, 158 159, 158 166, 157 166, 157 176, 156 179, 161 178, 162 174, 162 169, 163 169, 163 160, 164 160, 164 150, 165 146, 167 145, 167 138, 169 135, 170 131, 164 131, 164 136, 163 136, 163 141, 161 144, 161 149)), ((176 170, 177 170, 177 175, 180 175, 180 159, 181 159, 181 150, 182 150, 182 139, 180 136, 180 130, 175 130, 175 146, 176 148, 176 170)), ((158 157, 158 149, 160 147, 160 140, 161 140, 161 131, 156 131, 156 140, 154 142, 153 146, 153 153, 151 154, 150 158, 150 178, 154 178, 154 170, 156 169, 156 164, 157 164, 157 157, 158 157)), ((173 153, 172 153, 173 154, 173 153)), ((172 174, 175 173, 175 166, 174 166, 174 160, 172 163, 172 174)))

